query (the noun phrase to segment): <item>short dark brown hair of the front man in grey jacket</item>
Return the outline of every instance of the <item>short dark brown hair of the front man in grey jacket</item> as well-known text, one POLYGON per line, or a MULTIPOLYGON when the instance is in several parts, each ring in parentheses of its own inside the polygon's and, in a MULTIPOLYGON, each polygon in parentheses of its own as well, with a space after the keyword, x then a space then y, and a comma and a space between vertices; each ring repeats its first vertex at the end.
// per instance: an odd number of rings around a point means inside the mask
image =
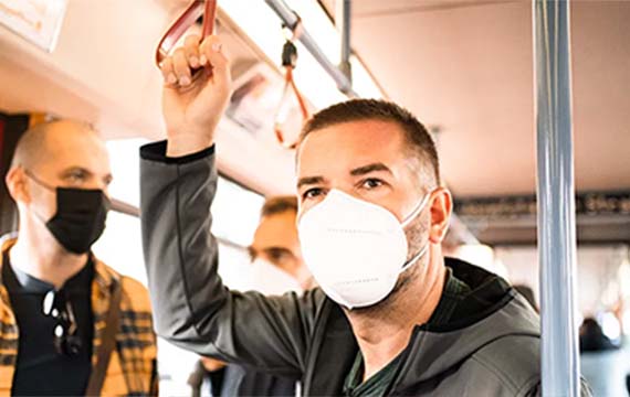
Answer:
POLYGON ((400 126, 412 153, 419 158, 422 164, 432 168, 435 184, 440 185, 438 150, 427 128, 409 110, 387 100, 351 99, 321 110, 302 129, 300 142, 304 141, 315 130, 343 122, 369 119, 391 121, 400 126))

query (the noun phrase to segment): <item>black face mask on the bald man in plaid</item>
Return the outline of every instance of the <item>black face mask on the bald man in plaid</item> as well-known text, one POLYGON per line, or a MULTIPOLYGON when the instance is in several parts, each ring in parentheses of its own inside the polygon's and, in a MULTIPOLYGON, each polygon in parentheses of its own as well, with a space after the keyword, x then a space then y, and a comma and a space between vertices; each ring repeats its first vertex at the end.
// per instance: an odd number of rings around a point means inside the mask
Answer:
POLYGON ((52 187, 32 173, 27 174, 39 185, 56 193, 56 213, 48 222, 42 221, 59 244, 74 254, 90 251, 105 230, 107 212, 112 206, 107 195, 99 189, 52 187))

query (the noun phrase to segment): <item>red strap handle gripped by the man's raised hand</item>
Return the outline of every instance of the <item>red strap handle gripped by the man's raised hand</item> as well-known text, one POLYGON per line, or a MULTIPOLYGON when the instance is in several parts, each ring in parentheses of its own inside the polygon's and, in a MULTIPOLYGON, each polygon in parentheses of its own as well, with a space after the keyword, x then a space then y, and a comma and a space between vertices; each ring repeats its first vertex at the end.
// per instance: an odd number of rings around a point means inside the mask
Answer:
POLYGON ((164 58, 170 54, 183 33, 197 22, 202 12, 201 37, 204 39, 212 34, 217 18, 217 0, 193 0, 159 41, 156 50, 156 65, 158 67, 164 58))

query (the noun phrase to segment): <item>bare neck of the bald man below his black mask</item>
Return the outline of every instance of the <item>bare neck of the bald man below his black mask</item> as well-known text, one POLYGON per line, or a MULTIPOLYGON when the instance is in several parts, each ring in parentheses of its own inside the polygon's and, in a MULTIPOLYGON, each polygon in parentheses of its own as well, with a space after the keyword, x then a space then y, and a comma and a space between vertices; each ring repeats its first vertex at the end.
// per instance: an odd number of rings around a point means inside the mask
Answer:
POLYGON ((36 233, 29 228, 20 228, 18 240, 9 251, 9 256, 11 266, 52 283, 55 289, 63 287, 67 279, 87 264, 87 254, 69 253, 52 235, 36 236, 36 233))

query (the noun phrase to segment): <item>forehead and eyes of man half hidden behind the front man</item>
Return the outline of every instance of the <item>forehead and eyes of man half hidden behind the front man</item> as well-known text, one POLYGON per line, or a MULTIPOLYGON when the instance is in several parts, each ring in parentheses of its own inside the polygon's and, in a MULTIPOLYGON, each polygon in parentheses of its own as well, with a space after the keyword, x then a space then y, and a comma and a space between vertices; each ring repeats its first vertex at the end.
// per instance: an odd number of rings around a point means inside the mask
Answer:
POLYGON ((250 247, 251 259, 263 259, 296 277, 305 269, 292 210, 261 219, 250 247))

